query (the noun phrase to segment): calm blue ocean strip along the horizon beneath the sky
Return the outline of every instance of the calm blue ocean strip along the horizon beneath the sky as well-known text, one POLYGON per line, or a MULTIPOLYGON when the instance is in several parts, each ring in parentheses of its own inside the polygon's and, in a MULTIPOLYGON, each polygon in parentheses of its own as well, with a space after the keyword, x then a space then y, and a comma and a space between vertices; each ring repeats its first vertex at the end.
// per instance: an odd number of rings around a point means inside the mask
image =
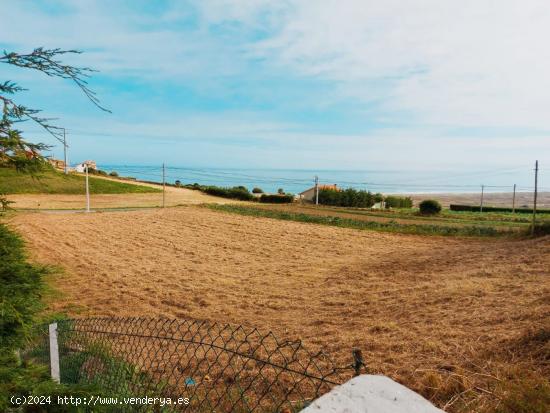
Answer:
MULTIPOLYGON (((162 182, 162 166, 98 164, 107 172, 116 171, 120 176, 145 181, 162 182)), ((166 166, 166 182, 179 180, 182 184, 239 186, 249 190, 262 188, 276 192, 282 188, 287 193, 300 193, 314 185, 315 176, 320 184, 337 184, 339 187, 368 189, 382 193, 474 193, 511 192, 533 190, 533 172, 529 168, 500 169, 491 171, 407 171, 407 170, 303 170, 303 169, 236 169, 236 168, 188 168, 166 166)), ((544 188, 544 175, 539 175, 540 190, 544 188)))

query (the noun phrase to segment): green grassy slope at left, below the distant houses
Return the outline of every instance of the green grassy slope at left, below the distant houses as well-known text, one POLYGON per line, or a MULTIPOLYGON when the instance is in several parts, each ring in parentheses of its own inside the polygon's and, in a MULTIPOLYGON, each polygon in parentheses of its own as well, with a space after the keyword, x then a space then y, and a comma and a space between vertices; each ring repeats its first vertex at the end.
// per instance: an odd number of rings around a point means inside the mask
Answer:
MULTIPOLYGON (((127 194, 160 192, 160 189, 90 177, 92 194, 127 194)), ((0 194, 84 194, 85 178, 81 175, 45 170, 35 175, 12 168, 0 168, 0 194)))

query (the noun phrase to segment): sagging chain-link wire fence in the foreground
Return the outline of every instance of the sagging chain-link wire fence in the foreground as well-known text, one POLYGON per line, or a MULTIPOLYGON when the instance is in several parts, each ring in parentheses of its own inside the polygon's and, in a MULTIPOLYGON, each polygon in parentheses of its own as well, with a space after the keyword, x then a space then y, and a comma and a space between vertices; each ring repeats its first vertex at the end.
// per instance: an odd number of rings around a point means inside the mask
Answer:
POLYGON ((39 330, 25 357, 50 364, 61 383, 96 386, 118 400, 187 399, 142 411, 296 412, 362 366, 358 350, 338 368, 300 341, 206 321, 91 318, 39 330))

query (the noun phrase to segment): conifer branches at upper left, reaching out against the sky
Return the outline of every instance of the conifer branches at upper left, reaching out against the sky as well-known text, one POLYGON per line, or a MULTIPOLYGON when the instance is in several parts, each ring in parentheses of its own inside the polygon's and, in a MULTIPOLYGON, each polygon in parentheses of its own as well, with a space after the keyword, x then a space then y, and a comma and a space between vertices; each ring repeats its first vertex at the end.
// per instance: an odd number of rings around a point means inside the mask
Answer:
MULTIPOLYGON (((42 72, 50 77, 58 77, 73 81, 86 97, 98 108, 104 108, 96 94, 88 87, 87 79, 93 69, 75 67, 58 60, 66 54, 80 54, 78 50, 44 49, 37 48, 31 53, 20 54, 4 51, 0 56, 0 63, 16 66, 22 69, 31 69, 42 72)), ((34 143, 23 137, 23 133, 16 125, 24 121, 32 121, 62 142, 63 128, 52 124, 51 118, 41 115, 38 109, 18 104, 13 96, 24 91, 23 87, 6 80, 0 81, 0 102, 2 102, 2 117, 0 119, 0 167, 15 167, 20 171, 33 171, 42 167, 45 159, 42 151, 48 146, 43 143, 34 143)))

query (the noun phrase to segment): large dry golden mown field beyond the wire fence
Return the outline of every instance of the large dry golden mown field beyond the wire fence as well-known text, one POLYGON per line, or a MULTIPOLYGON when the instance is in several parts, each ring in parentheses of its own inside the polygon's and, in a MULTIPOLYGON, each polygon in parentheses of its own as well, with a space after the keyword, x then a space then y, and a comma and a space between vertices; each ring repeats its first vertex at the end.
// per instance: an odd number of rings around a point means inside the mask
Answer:
POLYGON ((18 213, 10 225, 33 260, 64 269, 51 311, 245 324, 339 364, 360 347, 372 372, 451 412, 484 411, 508 383, 550 374, 549 237, 401 235, 197 206, 18 213))

